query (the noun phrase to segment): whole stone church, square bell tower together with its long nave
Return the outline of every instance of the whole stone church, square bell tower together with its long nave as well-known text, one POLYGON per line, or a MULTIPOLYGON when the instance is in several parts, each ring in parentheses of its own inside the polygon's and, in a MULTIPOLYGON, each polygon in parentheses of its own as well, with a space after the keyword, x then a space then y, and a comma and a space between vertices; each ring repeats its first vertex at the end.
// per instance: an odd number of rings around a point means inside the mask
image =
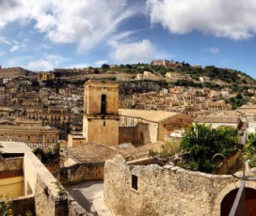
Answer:
POLYGON ((84 89, 83 131, 69 134, 68 147, 91 142, 108 147, 165 142, 170 131, 184 129, 192 123, 184 114, 119 109, 117 83, 89 80, 84 89))

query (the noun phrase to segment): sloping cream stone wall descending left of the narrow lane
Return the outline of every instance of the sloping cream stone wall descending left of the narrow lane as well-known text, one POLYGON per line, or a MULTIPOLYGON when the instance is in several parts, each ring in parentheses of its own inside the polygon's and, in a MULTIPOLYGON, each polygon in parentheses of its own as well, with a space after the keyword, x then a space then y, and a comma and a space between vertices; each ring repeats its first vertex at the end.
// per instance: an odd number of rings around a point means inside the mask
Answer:
POLYGON ((24 155, 24 186, 25 193, 35 197, 37 216, 86 215, 32 152, 24 155))

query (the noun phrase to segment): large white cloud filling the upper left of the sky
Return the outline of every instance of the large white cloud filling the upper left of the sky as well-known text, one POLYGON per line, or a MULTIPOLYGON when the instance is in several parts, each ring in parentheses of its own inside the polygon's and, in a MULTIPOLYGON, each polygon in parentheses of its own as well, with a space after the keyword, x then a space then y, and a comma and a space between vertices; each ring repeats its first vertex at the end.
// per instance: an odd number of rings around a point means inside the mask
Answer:
POLYGON ((115 36, 120 23, 138 11, 128 0, 2 0, 0 28, 7 23, 35 23, 56 43, 78 43, 88 51, 115 36))

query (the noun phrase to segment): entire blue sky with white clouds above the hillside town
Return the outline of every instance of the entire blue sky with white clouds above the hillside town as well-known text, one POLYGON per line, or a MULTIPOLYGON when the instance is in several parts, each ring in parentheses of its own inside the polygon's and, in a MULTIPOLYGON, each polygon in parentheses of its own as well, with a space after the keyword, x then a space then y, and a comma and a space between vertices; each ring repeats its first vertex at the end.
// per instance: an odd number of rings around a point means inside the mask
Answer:
POLYGON ((255 0, 0 0, 0 14, 3 68, 167 59, 256 78, 255 0))

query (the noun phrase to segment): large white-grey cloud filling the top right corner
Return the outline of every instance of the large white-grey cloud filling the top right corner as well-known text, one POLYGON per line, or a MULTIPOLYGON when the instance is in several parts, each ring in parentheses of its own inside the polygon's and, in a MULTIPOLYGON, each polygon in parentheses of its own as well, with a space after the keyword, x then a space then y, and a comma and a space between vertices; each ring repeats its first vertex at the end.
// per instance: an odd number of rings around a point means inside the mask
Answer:
POLYGON ((248 39, 256 33, 256 1, 147 0, 151 22, 171 33, 193 30, 216 37, 248 39))

